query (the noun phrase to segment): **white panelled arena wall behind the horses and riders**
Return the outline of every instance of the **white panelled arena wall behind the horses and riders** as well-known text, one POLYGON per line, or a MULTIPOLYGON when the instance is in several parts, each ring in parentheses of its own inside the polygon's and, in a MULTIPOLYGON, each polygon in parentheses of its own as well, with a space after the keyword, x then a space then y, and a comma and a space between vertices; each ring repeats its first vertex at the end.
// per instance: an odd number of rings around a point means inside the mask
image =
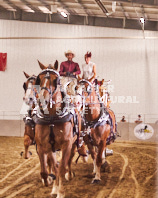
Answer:
POLYGON ((37 59, 61 62, 71 49, 80 66, 92 52, 100 79, 112 80, 112 96, 136 96, 139 103, 112 104, 116 114, 158 114, 158 32, 145 37, 138 30, 0 20, 0 52, 8 53, 7 70, 0 72, 0 111, 20 111, 22 71, 38 74, 37 59))

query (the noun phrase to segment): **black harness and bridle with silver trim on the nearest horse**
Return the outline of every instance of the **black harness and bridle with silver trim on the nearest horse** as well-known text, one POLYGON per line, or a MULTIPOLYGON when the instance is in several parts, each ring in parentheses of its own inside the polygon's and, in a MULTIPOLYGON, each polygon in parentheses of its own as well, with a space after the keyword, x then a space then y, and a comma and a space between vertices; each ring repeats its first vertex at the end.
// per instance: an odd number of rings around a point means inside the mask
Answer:
MULTIPOLYGON (((46 74, 44 78, 50 80, 50 88, 47 87, 42 87, 41 90, 46 90, 49 93, 49 103, 50 103, 50 108, 52 108, 53 104, 57 104, 55 101, 53 101, 52 97, 54 93, 57 91, 57 87, 60 86, 60 79, 59 79, 59 74, 58 72, 52 70, 52 69, 46 69, 40 74, 46 74), (51 83, 51 78, 50 78, 50 73, 55 73, 57 74, 57 79, 56 79, 56 85, 55 89, 52 91, 52 83, 51 83)), ((40 75, 39 74, 39 75, 40 75)), ((37 80, 39 80, 39 76, 37 77, 37 80)), ((78 119, 77 115, 75 113, 75 110, 73 106, 70 106, 68 98, 66 97, 66 94, 63 90, 61 90, 60 86, 60 91, 62 94, 62 97, 64 98, 63 102, 64 103, 64 108, 63 111, 56 114, 56 115, 45 115, 41 111, 38 112, 38 109, 34 110, 34 115, 33 115, 33 121, 35 124, 40 124, 40 125, 49 125, 50 127, 50 140, 49 143, 52 145, 52 151, 55 152, 55 135, 54 135, 54 125, 55 124, 60 124, 60 123, 65 123, 65 122, 71 122, 73 119, 74 121, 74 127, 73 127, 73 136, 77 135, 77 145, 78 145, 78 139, 79 139, 79 126, 78 126, 78 119)))

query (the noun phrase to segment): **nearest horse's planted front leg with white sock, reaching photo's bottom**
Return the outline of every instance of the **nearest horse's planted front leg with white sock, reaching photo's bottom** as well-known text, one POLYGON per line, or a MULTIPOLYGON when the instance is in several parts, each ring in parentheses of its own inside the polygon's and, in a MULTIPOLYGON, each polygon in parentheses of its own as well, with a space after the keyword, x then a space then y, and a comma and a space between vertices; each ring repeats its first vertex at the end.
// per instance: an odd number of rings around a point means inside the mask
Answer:
POLYGON ((57 198, 64 198, 65 197, 65 191, 63 186, 63 179, 66 174, 66 167, 68 165, 68 161, 70 158, 72 149, 72 141, 69 140, 63 144, 62 148, 62 159, 59 166, 59 191, 57 194, 57 198))

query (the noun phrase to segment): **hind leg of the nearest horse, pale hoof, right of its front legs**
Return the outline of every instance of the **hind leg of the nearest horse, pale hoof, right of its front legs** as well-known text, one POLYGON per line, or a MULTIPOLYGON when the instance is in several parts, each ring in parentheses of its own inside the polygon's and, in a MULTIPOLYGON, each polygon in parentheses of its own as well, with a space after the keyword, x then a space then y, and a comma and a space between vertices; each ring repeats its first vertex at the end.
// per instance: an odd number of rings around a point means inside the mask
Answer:
POLYGON ((70 181, 74 176, 75 176, 75 173, 72 172, 71 170, 71 165, 72 165, 72 159, 75 155, 75 152, 76 152, 76 143, 74 143, 72 145, 72 149, 71 149, 71 155, 70 155, 70 158, 69 158, 69 161, 68 161, 68 172, 65 174, 65 179, 67 181, 70 181))

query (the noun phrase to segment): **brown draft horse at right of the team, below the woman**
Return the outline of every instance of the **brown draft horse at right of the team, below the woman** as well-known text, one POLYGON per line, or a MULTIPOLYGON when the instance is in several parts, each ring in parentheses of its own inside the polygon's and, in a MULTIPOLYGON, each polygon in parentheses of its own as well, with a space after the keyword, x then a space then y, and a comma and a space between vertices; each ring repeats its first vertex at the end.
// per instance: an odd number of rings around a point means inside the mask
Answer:
POLYGON ((84 96, 83 117, 86 121, 85 129, 88 128, 88 131, 85 132, 83 139, 88 146, 94 163, 93 173, 95 173, 95 178, 92 180, 92 183, 99 183, 101 180, 100 169, 102 165, 102 153, 106 148, 106 140, 110 133, 110 124, 107 119, 107 121, 104 120, 104 124, 96 125, 95 127, 92 126, 91 129, 89 128, 91 124, 96 123, 100 118, 101 104, 95 88, 90 82, 81 80, 76 89, 77 94, 84 96), (94 146, 97 147, 97 153, 95 152, 94 146))

